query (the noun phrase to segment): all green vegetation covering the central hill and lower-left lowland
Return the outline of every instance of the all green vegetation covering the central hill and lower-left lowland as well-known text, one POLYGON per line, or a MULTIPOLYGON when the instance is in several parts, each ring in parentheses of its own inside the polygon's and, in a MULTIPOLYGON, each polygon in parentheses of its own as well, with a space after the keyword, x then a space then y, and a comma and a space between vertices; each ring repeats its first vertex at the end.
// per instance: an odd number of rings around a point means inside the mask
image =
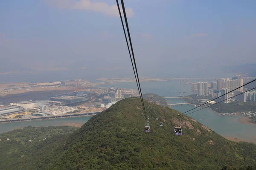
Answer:
POLYGON ((71 127, 62 134, 58 127, 45 132, 47 127, 27 127, 21 136, 18 130, 3 133, 1 138, 10 141, 0 143, 0 160, 11 161, 0 164, 0 169, 246 170, 245 166, 256 166, 255 144, 229 141, 187 116, 180 121, 173 117, 178 112, 168 107, 145 101, 145 109, 147 115, 140 99, 128 98, 93 116, 75 132, 71 127), (144 132, 146 116, 150 116, 149 133, 144 132), (174 135, 175 125, 182 126, 182 136, 174 135), (44 133, 50 137, 42 141, 44 133))

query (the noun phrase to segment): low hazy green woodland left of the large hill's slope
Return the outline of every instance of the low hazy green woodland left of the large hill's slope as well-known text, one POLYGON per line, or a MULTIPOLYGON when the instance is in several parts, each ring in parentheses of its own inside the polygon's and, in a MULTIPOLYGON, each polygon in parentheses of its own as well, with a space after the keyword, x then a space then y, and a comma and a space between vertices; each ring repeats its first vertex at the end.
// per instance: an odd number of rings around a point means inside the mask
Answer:
POLYGON ((28 126, 1 133, 0 170, 39 170, 42 167, 46 169, 52 159, 61 153, 60 147, 69 134, 77 129, 70 126, 28 126))

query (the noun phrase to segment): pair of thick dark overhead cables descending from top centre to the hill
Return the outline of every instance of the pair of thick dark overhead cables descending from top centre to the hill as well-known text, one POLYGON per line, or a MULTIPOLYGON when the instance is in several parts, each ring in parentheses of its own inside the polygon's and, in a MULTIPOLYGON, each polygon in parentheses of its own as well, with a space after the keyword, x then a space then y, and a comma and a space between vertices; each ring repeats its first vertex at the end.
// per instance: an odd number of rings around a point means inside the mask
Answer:
POLYGON ((133 48, 132 48, 132 44, 131 44, 131 36, 130 36, 130 32, 129 32, 129 28, 128 28, 128 23, 127 23, 127 18, 126 18, 126 12, 125 12, 125 8, 124 8, 123 2, 121 2, 121 3, 122 3, 123 13, 124 13, 124 16, 125 16, 126 28, 128 30, 128 36, 129 36, 129 41, 130 41, 131 50, 132 50, 132 54, 133 54, 134 64, 133 64, 133 61, 132 61, 132 58, 131 58, 131 51, 130 51, 130 48, 129 48, 129 45, 128 45, 128 40, 127 40, 127 36, 126 36, 126 32, 125 32, 124 23, 123 23, 123 20, 122 20, 122 14, 121 14, 121 11, 120 11, 120 8, 119 8, 119 3, 118 3, 118 0, 116 0, 117 8, 118 8, 120 19, 121 19, 121 23, 122 23, 122 28, 123 28, 123 31, 124 31, 124 34, 125 34, 125 40, 126 40, 127 48, 128 48, 130 59, 131 59, 131 65, 132 65, 132 68, 133 68, 133 71, 134 71, 134 76, 135 76, 135 79, 136 79, 137 88, 138 88, 138 91, 139 91, 139 94, 140 94, 140 100, 141 100, 141 103, 142 103, 142 106, 143 106, 143 111, 144 111, 145 116, 146 116, 145 105, 144 105, 144 102, 143 102, 143 96, 142 96, 142 92, 141 92, 141 88, 140 88, 140 80, 139 80, 139 76, 138 76, 138 72, 137 72, 137 66, 136 66, 134 52, 133 52, 133 48), (137 77, 136 77, 136 74, 135 74, 134 65, 135 65, 135 69, 136 69, 138 80, 137 80, 137 77), (139 82, 139 84, 138 84, 138 82, 139 82))

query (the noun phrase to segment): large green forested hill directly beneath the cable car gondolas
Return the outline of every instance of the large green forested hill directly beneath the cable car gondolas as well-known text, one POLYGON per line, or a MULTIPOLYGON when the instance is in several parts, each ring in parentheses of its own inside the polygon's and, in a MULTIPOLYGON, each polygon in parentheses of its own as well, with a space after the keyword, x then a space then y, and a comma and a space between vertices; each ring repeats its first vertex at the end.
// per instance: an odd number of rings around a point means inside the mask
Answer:
POLYGON ((67 139, 51 169, 218 170, 256 165, 256 145, 228 141, 187 116, 179 121, 173 117, 178 112, 167 107, 145 101, 145 109, 147 115, 140 99, 127 98, 93 116, 67 139), (146 116, 149 133, 144 132, 146 116), (175 125, 182 126, 183 136, 174 135, 175 125))

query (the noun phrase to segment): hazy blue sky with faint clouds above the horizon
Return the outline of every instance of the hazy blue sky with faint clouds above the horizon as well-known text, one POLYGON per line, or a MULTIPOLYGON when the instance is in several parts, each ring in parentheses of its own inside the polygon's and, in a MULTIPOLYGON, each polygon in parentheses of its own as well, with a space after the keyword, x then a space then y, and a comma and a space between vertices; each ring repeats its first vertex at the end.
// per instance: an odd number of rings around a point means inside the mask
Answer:
MULTIPOLYGON (((256 63, 255 0, 125 0, 125 8, 143 75, 256 63)), ((0 72, 133 74, 115 0, 1 0, 0 61, 0 72)))

